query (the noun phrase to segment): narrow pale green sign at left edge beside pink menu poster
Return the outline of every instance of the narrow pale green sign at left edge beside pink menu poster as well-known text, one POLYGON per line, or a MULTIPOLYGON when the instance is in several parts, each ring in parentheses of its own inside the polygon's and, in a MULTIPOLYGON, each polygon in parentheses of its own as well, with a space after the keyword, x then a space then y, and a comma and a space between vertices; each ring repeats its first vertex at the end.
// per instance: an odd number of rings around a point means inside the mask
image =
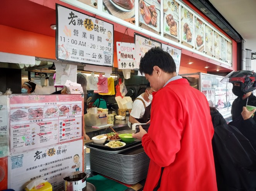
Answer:
POLYGON ((7 156, 8 128, 9 128, 9 124, 8 124, 7 96, 0 95, 0 157, 7 156))

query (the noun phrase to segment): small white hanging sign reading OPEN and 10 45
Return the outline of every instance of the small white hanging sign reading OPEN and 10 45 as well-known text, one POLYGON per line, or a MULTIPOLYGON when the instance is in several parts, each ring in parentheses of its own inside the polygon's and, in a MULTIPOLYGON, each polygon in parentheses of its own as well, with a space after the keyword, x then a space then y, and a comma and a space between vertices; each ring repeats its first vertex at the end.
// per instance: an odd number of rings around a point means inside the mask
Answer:
POLYGON ((134 69, 136 48, 134 43, 117 42, 118 69, 134 69))

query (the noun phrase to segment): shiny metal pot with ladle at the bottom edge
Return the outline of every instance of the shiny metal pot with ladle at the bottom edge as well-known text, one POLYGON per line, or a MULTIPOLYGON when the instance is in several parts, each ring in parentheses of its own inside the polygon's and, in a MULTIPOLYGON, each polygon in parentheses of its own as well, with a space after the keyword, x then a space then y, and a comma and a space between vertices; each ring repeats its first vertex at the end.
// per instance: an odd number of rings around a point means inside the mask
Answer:
POLYGON ((86 191, 86 179, 90 173, 86 174, 81 171, 76 171, 64 177, 64 191, 86 191))

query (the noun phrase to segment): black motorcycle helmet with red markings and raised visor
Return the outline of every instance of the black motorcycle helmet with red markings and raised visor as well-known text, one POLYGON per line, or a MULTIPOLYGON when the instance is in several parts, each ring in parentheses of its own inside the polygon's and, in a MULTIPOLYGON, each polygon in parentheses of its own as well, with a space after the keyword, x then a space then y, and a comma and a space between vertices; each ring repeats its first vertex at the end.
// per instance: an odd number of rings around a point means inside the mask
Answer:
POLYGON ((256 90, 256 73, 249 70, 232 71, 222 80, 222 83, 229 82, 234 85, 234 83, 241 83, 241 91, 248 93, 250 91, 256 90))

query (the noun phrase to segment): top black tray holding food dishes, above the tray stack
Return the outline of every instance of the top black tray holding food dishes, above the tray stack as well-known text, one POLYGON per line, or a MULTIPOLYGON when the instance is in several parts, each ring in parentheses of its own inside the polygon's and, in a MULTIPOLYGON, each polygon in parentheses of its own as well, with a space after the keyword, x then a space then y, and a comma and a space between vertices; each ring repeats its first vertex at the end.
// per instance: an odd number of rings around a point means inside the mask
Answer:
POLYGON ((85 143, 85 146, 94 149, 103 153, 121 153, 124 151, 127 151, 131 148, 136 148, 138 146, 141 146, 141 140, 135 139, 132 143, 126 143, 125 146, 122 146, 120 148, 110 148, 109 146, 105 146, 106 143, 109 143, 109 141, 106 141, 103 144, 97 144, 93 142, 85 143))

